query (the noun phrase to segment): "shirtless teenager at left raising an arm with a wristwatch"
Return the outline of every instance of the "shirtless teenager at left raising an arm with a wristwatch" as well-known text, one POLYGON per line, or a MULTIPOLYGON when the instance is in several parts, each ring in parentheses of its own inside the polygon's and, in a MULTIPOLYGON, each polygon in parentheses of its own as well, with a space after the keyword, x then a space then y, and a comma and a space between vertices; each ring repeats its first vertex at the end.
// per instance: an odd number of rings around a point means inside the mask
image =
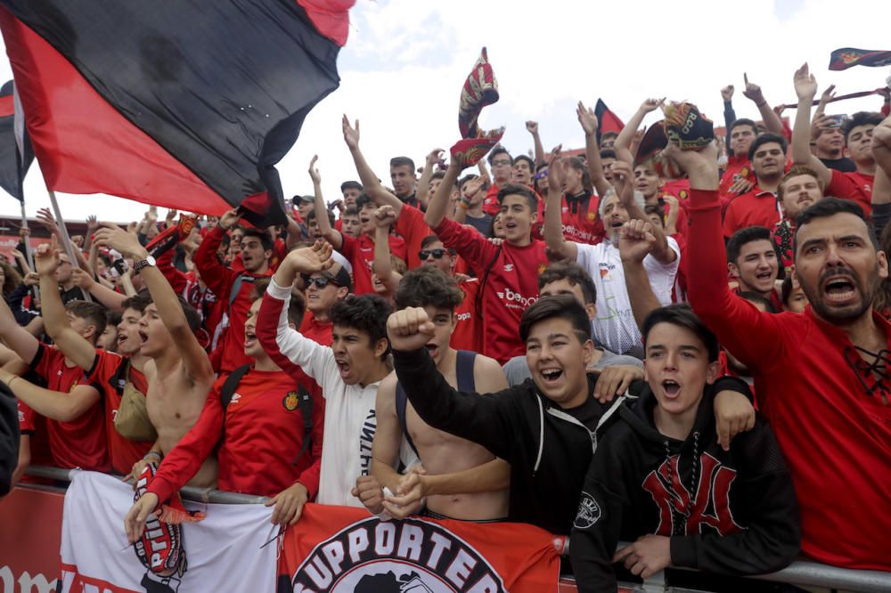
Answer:
MULTIPOLYGON (((144 366, 146 410, 158 440, 146 459, 135 464, 133 474, 137 477, 148 458, 160 462, 194 426, 213 385, 214 371, 194 334, 200 327, 198 312, 176 296, 135 235, 114 224, 103 226, 95 234, 96 243, 132 257, 134 270, 140 272, 152 299, 139 321, 143 338, 140 352, 150 359, 144 366)), ((210 487, 216 481, 216 459, 208 459, 189 484, 210 487)))

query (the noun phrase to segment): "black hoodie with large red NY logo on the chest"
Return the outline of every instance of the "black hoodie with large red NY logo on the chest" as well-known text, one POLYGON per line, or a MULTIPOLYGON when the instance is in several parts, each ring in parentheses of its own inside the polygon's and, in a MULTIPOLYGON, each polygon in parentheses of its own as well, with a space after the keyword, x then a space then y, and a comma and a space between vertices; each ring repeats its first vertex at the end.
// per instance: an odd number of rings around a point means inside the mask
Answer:
POLYGON ((671 537, 672 565, 707 573, 759 574, 789 565, 801 544, 792 479, 767 421, 723 451, 707 386, 691 435, 658 432, 649 386, 619 410, 601 437, 584 488, 569 554, 578 590, 616 590, 617 542, 671 537))

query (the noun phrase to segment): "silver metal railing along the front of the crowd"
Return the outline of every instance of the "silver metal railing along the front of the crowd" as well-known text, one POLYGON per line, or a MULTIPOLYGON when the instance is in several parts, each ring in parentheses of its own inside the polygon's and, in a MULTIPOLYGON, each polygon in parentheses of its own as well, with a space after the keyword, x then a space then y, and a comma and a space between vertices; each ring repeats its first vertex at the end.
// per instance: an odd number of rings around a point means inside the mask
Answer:
MULTIPOLYGON (((60 467, 30 466, 25 473, 34 477, 70 482, 72 475, 79 469, 61 469, 60 467)), ((264 496, 249 496, 238 492, 226 492, 210 488, 193 488, 186 486, 180 491, 186 500, 205 503, 254 505, 265 503, 264 496)), ((568 540, 564 554, 568 553, 568 540)), ((891 591, 891 573, 879 571, 862 571, 838 568, 838 566, 822 565, 810 560, 797 560, 776 573, 761 574, 748 577, 763 581, 782 582, 805 587, 822 587, 825 589, 844 589, 862 593, 887 593, 891 591)), ((645 591, 665 590, 665 573, 654 574, 643 583, 645 591)))

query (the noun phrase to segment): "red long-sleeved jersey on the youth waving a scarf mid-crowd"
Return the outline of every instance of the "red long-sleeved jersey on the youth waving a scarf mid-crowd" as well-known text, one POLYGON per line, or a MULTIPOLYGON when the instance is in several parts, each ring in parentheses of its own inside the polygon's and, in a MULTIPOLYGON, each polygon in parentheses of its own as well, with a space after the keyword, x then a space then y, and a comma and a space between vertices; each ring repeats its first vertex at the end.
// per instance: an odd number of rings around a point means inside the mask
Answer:
POLYGON ((538 275, 548 265, 544 241, 495 247, 476 230, 444 218, 433 230, 477 271, 482 294, 483 353, 501 364, 526 352, 519 318, 538 300, 538 275))

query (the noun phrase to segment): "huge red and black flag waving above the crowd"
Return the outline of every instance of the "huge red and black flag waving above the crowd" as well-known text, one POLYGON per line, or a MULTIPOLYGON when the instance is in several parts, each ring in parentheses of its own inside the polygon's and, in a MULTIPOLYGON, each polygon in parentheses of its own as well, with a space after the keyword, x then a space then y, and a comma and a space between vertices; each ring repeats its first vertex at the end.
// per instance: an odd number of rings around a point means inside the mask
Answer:
POLYGON ((274 165, 339 85, 355 0, 0 0, 51 190, 284 220, 274 165))

